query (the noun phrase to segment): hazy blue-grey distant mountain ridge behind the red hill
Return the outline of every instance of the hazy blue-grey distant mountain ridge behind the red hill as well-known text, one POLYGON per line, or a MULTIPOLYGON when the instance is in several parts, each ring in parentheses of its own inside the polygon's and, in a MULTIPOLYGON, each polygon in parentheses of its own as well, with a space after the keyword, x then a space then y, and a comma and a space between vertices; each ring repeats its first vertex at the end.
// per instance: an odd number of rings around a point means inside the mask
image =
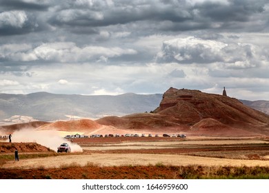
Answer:
MULTIPOLYGON (((48 92, 0 94, 0 122, 12 122, 12 119, 25 119, 26 122, 29 122, 28 120, 55 121, 124 116, 155 110, 162 99, 163 94, 135 93, 117 96, 51 94, 48 92)), ((240 101, 250 108, 269 114, 269 101, 240 101)), ((23 120, 19 121, 23 122, 23 120)))

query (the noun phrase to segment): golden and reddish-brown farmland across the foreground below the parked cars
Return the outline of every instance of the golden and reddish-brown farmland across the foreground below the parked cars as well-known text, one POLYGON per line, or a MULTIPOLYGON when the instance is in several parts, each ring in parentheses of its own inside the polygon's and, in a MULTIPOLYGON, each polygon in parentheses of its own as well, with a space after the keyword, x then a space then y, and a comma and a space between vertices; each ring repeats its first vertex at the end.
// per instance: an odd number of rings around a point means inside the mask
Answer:
POLYGON ((22 152, 17 162, 13 154, 1 153, 1 179, 269 178, 266 138, 119 137, 73 143, 83 152, 22 152))

